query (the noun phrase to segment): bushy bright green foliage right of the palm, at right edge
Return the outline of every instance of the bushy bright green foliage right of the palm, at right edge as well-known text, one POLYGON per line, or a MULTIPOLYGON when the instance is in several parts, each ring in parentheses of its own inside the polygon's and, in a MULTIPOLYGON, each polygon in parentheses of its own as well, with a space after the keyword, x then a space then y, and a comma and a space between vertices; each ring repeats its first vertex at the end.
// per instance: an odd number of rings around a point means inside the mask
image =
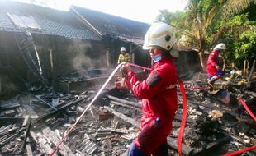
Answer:
POLYGON ((220 37, 226 39, 226 60, 232 60, 241 67, 244 59, 251 61, 255 59, 255 25, 255 21, 249 21, 248 13, 234 16, 230 21, 227 21, 225 25, 220 25, 219 30, 225 29, 225 34, 220 35, 220 37), (249 25, 249 28, 243 30, 241 29, 242 25, 249 25))

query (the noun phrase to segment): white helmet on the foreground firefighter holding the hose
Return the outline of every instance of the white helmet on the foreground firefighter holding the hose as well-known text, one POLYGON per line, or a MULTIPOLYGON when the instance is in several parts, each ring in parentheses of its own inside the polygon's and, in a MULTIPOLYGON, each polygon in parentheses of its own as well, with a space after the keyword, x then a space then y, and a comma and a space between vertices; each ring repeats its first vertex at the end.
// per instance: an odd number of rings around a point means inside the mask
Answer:
MULTIPOLYGON (((172 36, 172 27, 163 22, 154 23, 149 27, 145 34, 143 49, 149 50, 152 46, 159 46, 166 50, 171 50, 176 43, 176 39, 172 36)), ((170 52, 173 57, 178 57, 177 48, 170 52)))

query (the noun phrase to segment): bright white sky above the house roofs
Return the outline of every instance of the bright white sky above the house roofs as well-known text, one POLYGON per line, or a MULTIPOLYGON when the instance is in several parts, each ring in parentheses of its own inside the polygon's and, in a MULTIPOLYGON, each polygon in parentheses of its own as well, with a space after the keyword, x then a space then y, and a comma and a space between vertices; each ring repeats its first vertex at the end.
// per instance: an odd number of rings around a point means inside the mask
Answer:
POLYGON ((159 10, 183 11, 187 0, 16 0, 20 2, 47 2, 49 7, 68 11, 70 5, 86 7, 134 21, 152 23, 159 10))

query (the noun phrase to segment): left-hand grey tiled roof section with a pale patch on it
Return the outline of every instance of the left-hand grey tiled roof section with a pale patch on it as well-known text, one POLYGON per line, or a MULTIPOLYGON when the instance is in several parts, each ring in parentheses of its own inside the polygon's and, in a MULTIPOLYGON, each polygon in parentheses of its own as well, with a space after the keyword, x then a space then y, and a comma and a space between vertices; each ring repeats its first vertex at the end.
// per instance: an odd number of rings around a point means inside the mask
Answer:
POLYGON ((70 39, 101 40, 98 34, 75 19, 70 12, 21 2, 0 1, 0 30, 14 32, 29 30, 31 33, 58 35, 70 39), (38 23, 40 29, 31 28, 31 26, 17 26, 7 13, 25 19, 31 16, 38 23))

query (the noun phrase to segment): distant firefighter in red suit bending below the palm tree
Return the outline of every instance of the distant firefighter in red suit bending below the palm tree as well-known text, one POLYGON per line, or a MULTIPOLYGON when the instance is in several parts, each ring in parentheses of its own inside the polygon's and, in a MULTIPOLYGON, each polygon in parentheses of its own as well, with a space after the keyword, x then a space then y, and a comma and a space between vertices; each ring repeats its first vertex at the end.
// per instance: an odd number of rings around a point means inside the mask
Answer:
POLYGON ((225 51, 225 44, 218 44, 211 51, 207 61, 208 84, 210 87, 214 82, 224 76, 224 71, 219 66, 219 53, 225 51))

